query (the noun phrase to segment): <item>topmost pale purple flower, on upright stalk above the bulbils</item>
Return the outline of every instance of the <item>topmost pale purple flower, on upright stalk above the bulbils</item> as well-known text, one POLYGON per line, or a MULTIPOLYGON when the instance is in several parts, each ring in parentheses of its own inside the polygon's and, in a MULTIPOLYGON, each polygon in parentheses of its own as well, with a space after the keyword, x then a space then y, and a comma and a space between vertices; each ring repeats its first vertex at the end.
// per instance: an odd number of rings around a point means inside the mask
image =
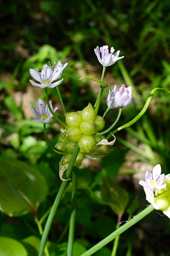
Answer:
POLYGON ((115 62, 117 62, 117 60, 124 58, 124 56, 119 57, 120 51, 117 51, 113 54, 113 52, 114 52, 113 47, 111 47, 110 53, 109 53, 107 45, 100 47, 100 49, 99 49, 99 46, 97 46, 96 49, 94 49, 94 52, 98 58, 98 61, 105 67, 111 66, 111 65, 115 64, 115 62), (101 53, 101 56, 100 56, 100 53, 101 53))

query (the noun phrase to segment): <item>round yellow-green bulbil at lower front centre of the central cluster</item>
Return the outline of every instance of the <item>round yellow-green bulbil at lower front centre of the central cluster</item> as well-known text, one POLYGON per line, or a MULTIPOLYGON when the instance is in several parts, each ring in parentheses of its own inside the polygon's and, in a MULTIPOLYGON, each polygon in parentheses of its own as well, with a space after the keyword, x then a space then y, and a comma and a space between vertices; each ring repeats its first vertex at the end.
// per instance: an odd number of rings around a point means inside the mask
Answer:
POLYGON ((95 140, 92 135, 82 135, 78 141, 78 146, 84 152, 90 152, 95 146, 95 140))

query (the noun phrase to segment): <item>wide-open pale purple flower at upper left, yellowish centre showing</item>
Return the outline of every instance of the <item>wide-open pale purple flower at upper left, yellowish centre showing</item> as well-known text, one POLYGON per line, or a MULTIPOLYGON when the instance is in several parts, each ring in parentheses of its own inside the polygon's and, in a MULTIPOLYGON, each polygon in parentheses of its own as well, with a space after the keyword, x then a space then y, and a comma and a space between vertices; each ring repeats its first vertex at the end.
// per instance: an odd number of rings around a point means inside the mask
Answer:
POLYGON ((33 68, 29 69, 31 76, 38 81, 39 83, 35 83, 32 80, 29 80, 33 86, 40 88, 54 88, 55 86, 61 84, 63 78, 57 82, 52 83, 53 81, 61 78, 61 73, 63 71, 62 66, 58 66, 57 68, 52 68, 51 65, 43 65, 43 69, 41 72, 38 70, 34 70, 33 68))

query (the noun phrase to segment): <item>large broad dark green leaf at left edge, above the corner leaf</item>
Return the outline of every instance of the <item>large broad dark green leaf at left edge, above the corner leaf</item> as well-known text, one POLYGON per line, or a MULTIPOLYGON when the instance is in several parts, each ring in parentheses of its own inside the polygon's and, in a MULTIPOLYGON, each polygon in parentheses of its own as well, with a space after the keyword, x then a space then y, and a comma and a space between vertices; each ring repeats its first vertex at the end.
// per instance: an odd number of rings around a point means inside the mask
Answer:
POLYGON ((36 212, 48 192, 45 177, 35 168, 0 157, 0 209, 9 216, 36 212))

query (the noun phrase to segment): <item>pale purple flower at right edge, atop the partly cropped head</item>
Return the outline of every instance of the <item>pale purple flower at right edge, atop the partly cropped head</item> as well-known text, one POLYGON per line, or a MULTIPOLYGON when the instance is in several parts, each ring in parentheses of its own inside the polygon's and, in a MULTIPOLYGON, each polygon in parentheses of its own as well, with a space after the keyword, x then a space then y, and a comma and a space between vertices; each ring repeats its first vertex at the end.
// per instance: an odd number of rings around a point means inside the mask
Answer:
POLYGON ((145 181, 139 180, 139 184, 145 188, 149 188, 152 192, 166 188, 166 184, 163 184, 165 174, 161 174, 161 166, 157 164, 154 166, 152 173, 145 173, 145 181))

